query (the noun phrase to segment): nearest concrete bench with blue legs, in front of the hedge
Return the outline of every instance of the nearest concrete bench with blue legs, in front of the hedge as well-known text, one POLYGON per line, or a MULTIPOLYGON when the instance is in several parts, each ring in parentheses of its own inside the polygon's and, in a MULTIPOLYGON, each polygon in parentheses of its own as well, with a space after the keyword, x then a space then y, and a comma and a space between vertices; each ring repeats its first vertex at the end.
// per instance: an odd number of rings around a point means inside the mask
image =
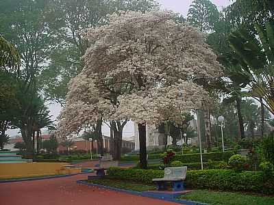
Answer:
POLYGON ((166 190, 167 182, 172 183, 173 191, 183 191, 187 169, 188 167, 166 167, 164 168, 164 178, 153 178, 153 182, 157 182, 158 191, 166 190))

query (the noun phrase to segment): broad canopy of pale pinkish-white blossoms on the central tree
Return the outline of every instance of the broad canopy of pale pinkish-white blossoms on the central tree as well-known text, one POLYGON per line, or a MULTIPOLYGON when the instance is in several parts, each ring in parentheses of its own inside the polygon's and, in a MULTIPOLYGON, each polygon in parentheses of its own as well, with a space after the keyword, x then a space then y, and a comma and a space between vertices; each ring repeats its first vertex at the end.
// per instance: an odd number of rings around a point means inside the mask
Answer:
POLYGON ((132 119, 159 124, 182 120, 182 113, 208 103, 197 80, 222 75, 206 36, 186 24, 176 24, 172 12, 123 12, 110 24, 86 29, 91 45, 84 70, 69 86, 60 130, 82 124, 132 119))

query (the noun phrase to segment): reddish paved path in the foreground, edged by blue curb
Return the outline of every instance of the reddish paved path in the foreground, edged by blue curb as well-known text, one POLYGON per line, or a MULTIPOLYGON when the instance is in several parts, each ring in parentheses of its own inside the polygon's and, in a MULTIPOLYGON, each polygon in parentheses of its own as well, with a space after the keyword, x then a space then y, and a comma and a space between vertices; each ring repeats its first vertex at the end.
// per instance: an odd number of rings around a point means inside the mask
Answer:
POLYGON ((0 204, 3 205, 172 205, 175 203, 139 197, 76 184, 88 174, 64 178, 0 183, 0 204))

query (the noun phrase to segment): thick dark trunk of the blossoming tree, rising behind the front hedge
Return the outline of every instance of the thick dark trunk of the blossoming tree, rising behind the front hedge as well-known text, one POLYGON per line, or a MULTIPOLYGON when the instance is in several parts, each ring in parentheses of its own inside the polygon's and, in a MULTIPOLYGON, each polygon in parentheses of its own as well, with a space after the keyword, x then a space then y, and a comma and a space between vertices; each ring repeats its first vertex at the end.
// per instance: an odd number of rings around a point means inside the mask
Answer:
POLYGON ((139 142, 140 142, 140 167, 147 169, 147 141, 146 124, 138 124, 139 142))

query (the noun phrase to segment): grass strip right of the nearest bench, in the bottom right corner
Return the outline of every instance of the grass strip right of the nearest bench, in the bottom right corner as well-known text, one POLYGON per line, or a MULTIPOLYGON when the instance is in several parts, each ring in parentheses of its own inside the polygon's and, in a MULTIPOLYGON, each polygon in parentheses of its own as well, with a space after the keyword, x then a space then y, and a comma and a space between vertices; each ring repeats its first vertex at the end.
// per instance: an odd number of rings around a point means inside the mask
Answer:
POLYGON ((182 199, 203 202, 210 205, 273 205, 274 197, 260 197, 242 193, 197 190, 184 195, 182 199))

